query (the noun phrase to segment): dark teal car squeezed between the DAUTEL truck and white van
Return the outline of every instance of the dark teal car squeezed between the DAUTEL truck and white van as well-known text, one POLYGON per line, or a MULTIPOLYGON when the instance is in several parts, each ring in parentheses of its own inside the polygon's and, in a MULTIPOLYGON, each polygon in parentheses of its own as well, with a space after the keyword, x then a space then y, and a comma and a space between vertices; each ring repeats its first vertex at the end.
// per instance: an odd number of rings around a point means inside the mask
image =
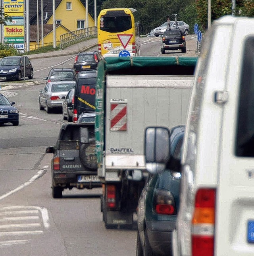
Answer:
MULTIPOLYGON (((171 129, 171 156, 181 157, 185 126, 171 129)), ((179 170, 180 171, 180 170, 179 170)), ((150 174, 137 208, 137 256, 170 256, 171 235, 179 210, 181 174, 165 169, 150 174)))

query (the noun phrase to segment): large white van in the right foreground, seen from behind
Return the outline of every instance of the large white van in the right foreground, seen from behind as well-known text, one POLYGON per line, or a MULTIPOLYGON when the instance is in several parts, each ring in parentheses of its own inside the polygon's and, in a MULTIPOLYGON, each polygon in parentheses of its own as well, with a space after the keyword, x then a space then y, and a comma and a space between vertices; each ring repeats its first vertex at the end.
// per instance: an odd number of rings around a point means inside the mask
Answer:
POLYGON ((174 256, 254 255, 254 18, 204 36, 182 151, 174 256))

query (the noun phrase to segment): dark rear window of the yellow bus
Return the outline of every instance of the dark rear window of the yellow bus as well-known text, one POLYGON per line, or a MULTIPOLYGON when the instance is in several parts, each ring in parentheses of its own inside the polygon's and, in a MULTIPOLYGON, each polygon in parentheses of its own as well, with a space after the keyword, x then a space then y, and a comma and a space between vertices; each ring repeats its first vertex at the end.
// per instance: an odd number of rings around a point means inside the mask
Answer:
POLYGON ((131 29, 131 17, 103 17, 104 27, 100 27, 102 31, 117 33, 131 29))

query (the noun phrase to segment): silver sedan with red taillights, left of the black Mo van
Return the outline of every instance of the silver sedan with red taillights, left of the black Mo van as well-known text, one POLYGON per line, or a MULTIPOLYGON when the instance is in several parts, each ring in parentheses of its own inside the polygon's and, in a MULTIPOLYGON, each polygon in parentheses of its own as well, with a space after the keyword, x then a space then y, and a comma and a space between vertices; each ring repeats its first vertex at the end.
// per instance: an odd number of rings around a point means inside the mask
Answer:
POLYGON ((53 109, 62 108, 63 99, 68 91, 75 87, 75 84, 76 82, 72 80, 46 83, 38 96, 39 109, 44 110, 46 108, 46 112, 51 113, 53 109))

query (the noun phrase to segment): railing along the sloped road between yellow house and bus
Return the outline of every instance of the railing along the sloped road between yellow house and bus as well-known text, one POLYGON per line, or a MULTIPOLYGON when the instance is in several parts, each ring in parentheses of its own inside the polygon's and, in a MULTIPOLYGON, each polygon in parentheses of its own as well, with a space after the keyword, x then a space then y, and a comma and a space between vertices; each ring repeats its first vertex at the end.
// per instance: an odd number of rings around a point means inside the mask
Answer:
POLYGON ((65 33, 60 35, 60 48, 63 49, 95 36, 97 36, 97 27, 88 27, 65 33))

